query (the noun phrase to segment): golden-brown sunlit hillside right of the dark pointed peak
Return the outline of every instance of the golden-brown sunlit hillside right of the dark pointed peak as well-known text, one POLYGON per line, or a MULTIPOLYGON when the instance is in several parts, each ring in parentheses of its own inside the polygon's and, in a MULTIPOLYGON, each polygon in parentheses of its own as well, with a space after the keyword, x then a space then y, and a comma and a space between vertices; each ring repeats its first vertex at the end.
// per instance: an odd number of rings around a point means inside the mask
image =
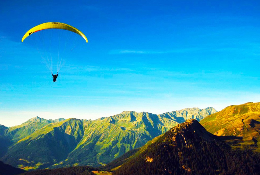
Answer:
MULTIPOLYGON (((260 103, 228 106, 201 120, 207 131, 218 136, 234 136, 234 147, 260 151, 260 103)), ((232 138, 232 137, 231 137, 232 138)))

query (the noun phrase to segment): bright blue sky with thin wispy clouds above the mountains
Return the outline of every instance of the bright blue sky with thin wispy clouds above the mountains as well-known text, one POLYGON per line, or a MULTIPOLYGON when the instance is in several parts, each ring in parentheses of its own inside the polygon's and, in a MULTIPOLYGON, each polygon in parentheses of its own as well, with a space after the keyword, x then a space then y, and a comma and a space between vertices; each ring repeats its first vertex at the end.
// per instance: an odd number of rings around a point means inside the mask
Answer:
POLYGON ((1 1, 0 124, 260 102, 259 11, 260 1, 1 1), (70 34, 56 83, 34 43, 59 30, 21 42, 44 22, 89 41, 70 34))

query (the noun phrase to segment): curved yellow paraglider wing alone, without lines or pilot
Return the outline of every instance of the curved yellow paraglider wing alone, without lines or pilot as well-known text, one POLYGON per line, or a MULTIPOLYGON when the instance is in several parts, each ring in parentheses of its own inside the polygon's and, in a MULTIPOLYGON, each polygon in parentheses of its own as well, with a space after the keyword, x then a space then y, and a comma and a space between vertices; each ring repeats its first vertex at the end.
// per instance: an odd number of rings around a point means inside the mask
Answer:
POLYGON ((86 42, 88 42, 88 39, 86 38, 86 36, 79 29, 76 29, 75 27, 72 27, 68 24, 60 23, 60 22, 46 22, 46 23, 43 23, 43 24, 40 24, 38 26, 31 28, 28 32, 26 32, 23 35, 22 42, 25 38, 27 38, 29 35, 31 35, 35 32, 38 32, 38 31, 41 31, 41 30, 44 30, 44 29, 51 29, 51 28, 64 29, 64 30, 72 31, 72 32, 77 33, 80 36, 82 36, 84 38, 84 40, 86 40, 86 42))

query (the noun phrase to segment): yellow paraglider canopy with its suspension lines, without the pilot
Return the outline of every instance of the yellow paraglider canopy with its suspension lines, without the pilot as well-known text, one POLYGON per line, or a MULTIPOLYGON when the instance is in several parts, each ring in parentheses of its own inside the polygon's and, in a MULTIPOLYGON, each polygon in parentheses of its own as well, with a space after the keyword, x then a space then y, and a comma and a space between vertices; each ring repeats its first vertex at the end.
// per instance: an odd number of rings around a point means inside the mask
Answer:
MULTIPOLYGON (((60 71, 65 63, 66 57, 70 55, 69 52, 72 52, 76 48, 77 45, 74 44, 76 43, 77 38, 81 40, 83 38, 88 42, 86 36, 79 29, 61 22, 46 22, 31 28, 24 34, 22 42, 32 34, 33 36, 30 38, 34 41, 33 45, 36 46, 37 51, 41 54, 43 62, 51 72, 53 71, 53 63, 55 62, 57 62, 57 72, 60 71), (74 40, 70 40, 71 35, 75 36, 74 40)), ((31 40, 28 41, 28 43, 32 42, 31 40)))

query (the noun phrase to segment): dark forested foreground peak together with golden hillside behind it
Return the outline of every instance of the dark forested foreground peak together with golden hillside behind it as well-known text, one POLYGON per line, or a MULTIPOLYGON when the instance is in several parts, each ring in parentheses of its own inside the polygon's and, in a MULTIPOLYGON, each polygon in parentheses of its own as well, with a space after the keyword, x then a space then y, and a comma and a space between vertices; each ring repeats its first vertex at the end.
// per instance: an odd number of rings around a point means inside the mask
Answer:
POLYGON ((115 159, 113 174, 259 174, 260 103, 187 120, 115 159), (144 168, 145 167, 145 168, 144 168))

